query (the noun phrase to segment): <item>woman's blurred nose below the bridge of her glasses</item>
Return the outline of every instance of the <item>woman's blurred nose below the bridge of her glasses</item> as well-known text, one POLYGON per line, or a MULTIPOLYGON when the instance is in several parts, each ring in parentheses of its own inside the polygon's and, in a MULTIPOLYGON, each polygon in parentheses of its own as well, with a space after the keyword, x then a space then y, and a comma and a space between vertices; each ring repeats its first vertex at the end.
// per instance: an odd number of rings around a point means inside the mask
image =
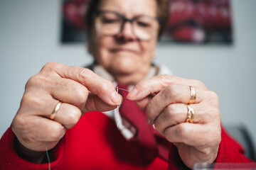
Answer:
POLYGON ((123 38, 124 40, 135 40, 136 35, 134 35, 133 29, 134 28, 132 27, 132 23, 125 22, 118 37, 123 38))

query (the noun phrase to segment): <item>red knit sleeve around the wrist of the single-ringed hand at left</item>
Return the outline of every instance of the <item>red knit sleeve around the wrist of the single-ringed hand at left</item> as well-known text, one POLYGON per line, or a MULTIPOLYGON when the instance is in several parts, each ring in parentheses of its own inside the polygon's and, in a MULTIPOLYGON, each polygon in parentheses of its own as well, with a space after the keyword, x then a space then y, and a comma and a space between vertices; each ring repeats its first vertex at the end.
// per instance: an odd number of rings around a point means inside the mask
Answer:
MULTIPOLYGON (((14 149, 14 132, 11 128, 6 130, 0 140, 0 169, 46 169, 48 170, 49 164, 34 164, 27 162, 21 157, 18 157, 14 149)), ((65 138, 65 137, 63 137, 65 138)), ((54 167, 60 162, 65 149, 65 140, 61 140, 59 144, 50 151, 50 167, 54 167)))

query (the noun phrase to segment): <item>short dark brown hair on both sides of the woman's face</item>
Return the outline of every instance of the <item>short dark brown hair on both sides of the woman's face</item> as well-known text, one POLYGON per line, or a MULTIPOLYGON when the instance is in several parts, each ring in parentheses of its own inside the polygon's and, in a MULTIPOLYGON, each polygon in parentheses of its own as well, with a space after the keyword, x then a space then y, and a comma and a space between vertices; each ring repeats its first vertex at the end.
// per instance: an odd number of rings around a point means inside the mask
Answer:
MULTIPOLYGON (((101 1, 102 0, 91 0, 87 8, 87 13, 85 13, 84 20, 85 20, 85 26, 86 26, 86 31, 87 31, 89 40, 90 40, 90 35, 92 35, 92 28, 94 25, 93 14, 95 13, 95 11, 97 11, 101 1)), ((160 39, 161 34, 166 28, 166 25, 168 22, 169 0, 156 0, 156 3, 157 3, 156 17, 159 18, 161 21, 161 26, 158 33, 158 39, 160 39)))

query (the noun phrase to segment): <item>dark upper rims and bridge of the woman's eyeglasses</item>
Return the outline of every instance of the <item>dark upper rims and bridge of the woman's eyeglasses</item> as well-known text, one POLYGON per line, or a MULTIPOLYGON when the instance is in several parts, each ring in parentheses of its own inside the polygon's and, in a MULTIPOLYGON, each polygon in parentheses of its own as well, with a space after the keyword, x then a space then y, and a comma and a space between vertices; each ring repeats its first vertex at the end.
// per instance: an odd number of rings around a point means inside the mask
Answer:
MULTIPOLYGON (((129 18, 125 17, 124 15, 122 15, 121 13, 118 13, 116 11, 98 10, 98 11, 95 11, 95 13, 93 13, 92 17, 96 19, 98 16, 100 16, 101 13, 109 13, 109 12, 116 14, 117 16, 119 16, 119 18, 122 19, 122 25, 121 25, 121 28, 119 30, 119 33, 122 33, 122 30, 124 28, 125 23, 129 22, 129 23, 132 24, 134 21, 137 20, 137 18, 140 18, 142 16, 146 16, 146 15, 139 15, 139 16, 135 16, 134 18, 129 19, 129 18)), ((157 17, 154 17, 154 16, 146 16, 146 17, 156 19, 156 21, 159 23, 159 30, 160 30, 160 27, 161 27, 161 19, 160 18, 157 18, 157 17)), ((119 33, 117 33, 116 35, 118 35, 119 33)))

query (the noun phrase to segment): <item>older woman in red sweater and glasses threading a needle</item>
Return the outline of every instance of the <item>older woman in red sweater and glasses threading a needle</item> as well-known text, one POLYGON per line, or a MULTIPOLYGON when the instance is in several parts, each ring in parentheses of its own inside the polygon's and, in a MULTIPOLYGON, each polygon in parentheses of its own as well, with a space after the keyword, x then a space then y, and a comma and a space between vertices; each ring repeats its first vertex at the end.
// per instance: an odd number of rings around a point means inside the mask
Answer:
POLYGON ((218 96, 152 64, 167 13, 165 0, 92 1, 86 22, 95 63, 50 62, 28 80, 1 138, 0 169, 250 162, 221 128, 218 96))

